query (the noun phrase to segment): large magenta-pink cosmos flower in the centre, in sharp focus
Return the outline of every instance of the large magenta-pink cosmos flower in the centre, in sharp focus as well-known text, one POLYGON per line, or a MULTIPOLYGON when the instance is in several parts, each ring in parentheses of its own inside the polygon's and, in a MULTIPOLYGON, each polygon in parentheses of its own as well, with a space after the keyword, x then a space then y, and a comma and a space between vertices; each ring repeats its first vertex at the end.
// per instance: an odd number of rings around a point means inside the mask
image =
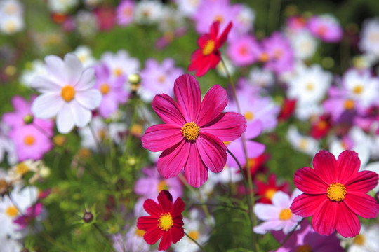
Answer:
POLYGON ((163 151, 157 168, 165 179, 177 176, 183 167, 189 185, 200 187, 208 179, 208 169, 221 172, 227 160, 224 141, 238 139, 246 130, 244 116, 222 113, 227 93, 214 85, 201 102, 194 76, 175 80, 177 102, 167 94, 154 97, 152 107, 166 124, 147 128, 142 137, 149 151, 163 151))

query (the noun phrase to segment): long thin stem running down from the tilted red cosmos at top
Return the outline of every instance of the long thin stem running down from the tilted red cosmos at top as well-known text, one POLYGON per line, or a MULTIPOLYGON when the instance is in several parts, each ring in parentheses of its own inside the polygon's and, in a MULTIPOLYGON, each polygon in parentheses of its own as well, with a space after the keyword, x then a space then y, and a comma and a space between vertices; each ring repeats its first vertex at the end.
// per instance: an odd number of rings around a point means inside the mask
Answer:
MULTIPOLYGON (((227 73, 227 78, 229 79, 229 83, 232 86, 234 102, 237 105, 237 112, 241 114, 241 107, 239 106, 237 93, 236 93, 236 87, 235 87, 234 82, 232 80, 232 76, 230 76, 230 72, 227 69, 227 66, 224 62, 224 59, 222 59, 222 57, 221 57, 221 62, 222 62, 223 66, 225 68, 225 71, 227 73)), ((244 154, 245 154, 245 158, 246 158, 246 170, 247 170, 247 176, 248 176, 247 180, 248 180, 248 189, 249 189, 248 194, 250 195, 250 204, 248 205, 248 210, 249 210, 249 215, 250 215, 250 219, 251 219, 251 225, 252 225, 252 227, 254 227, 255 225, 257 225, 257 218, 255 217, 255 214, 253 212, 254 202, 255 202, 254 193, 253 193, 253 181, 251 179, 251 170, 250 170, 250 167, 248 165, 248 153, 247 153, 247 147, 246 147, 245 134, 243 133, 241 137, 242 137, 242 145, 244 146, 244 154)), ((234 159, 237 160, 235 157, 234 157, 234 159)), ((241 169, 242 169, 242 167, 241 167, 241 169)), ((244 174, 244 173, 242 172, 242 174, 244 174)), ((259 244, 258 244, 257 238, 255 237, 255 232, 252 232, 252 233, 253 233, 253 241, 255 244, 255 251, 258 252, 259 251, 259 244)))

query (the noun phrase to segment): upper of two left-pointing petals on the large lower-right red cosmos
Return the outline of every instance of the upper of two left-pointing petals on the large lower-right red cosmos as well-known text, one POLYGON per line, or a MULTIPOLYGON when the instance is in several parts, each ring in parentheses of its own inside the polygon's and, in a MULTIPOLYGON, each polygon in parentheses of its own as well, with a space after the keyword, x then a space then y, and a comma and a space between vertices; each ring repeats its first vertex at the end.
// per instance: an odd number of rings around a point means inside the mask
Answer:
POLYGON ((317 195, 326 193, 329 184, 320 179, 310 167, 302 167, 298 169, 293 175, 293 183, 295 186, 304 193, 317 195))

